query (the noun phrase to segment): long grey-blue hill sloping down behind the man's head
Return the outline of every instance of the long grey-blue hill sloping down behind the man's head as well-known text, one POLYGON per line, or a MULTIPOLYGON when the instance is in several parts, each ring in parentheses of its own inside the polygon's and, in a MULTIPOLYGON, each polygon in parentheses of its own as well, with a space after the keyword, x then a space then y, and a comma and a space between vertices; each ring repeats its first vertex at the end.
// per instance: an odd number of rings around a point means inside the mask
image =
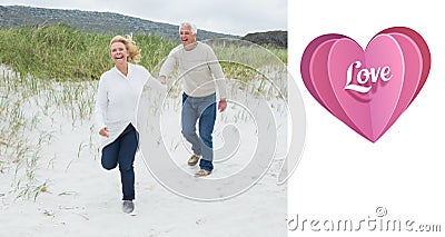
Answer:
MULTIPOLYGON (((80 11, 0 6, 0 29, 63 23, 86 32, 127 34, 158 34, 178 40, 178 26, 144 20, 113 12, 80 11)), ((198 40, 210 38, 239 38, 238 36, 199 30, 198 40)))

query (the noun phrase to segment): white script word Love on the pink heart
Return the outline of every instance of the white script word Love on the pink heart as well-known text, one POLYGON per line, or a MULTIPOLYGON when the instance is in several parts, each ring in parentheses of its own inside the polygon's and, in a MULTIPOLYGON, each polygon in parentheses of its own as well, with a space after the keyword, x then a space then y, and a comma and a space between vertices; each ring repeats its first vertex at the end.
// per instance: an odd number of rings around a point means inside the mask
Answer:
POLYGON ((350 63, 350 66, 347 69, 346 72, 346 86, 345 90, 355 90, 357 92, 366 93, 372 89, 372 86, 365 87, 363 85, 367 85, 370 78, 370 81, 373 83, 377 82, 377 79, 380 78, 382 81, 389 81, 390 78, 393 78, 393 75, 390 75, 390 68, 389 66, 385 66, 383 68, 378 67, 376 68, 370 68, 369 70, 364 68, 357 72, 357 82, 360 85, 353 85, 353 68, 360 68, 362 62, 360 61, 355 61, 350 63))

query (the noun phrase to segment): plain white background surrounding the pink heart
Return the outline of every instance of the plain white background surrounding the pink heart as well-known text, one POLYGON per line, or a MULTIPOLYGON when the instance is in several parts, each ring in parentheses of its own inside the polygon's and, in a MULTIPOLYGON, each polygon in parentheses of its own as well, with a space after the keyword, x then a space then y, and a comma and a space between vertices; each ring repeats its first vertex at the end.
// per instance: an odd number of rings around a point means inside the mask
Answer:
MULTIPOLYGON (((376 218, 441 224, 438 233, 315 233, 289 236, 439 236, 445 231, 445 13, 439 1, 288 1, 289 70, 303 95, 307 139, 289 180, 288 215, 320 221, 376 218), (390 27, 419 32, 432 55, 428 79, 413 103, 375 144, 325 110, 305 88, 299 63, 306 46, 340 33, 366 47, 390 27)), ((295 227, 295 226, 294 226, 295 227)), ((319 226, 323 229, 323 226, 319 226)), ((366 226, 365 226, 366 227, 366 226)), ((416 227, 415 225, 413 227, 416 227)))

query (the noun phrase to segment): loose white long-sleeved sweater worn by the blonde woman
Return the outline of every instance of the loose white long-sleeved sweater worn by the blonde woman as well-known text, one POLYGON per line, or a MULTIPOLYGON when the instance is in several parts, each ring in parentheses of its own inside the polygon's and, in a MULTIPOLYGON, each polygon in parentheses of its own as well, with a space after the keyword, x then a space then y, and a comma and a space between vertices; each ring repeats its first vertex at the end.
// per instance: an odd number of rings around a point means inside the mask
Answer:
POLYGON ((109 130, 109 138, 101 137, 101 147, 112 142, 132 124, 137 129, 139 98, 148 79, 155 80, 142 66, 128 63, 127 77, 116 67, 101 75, 96 96, 95 119, 100 130, 109 130))

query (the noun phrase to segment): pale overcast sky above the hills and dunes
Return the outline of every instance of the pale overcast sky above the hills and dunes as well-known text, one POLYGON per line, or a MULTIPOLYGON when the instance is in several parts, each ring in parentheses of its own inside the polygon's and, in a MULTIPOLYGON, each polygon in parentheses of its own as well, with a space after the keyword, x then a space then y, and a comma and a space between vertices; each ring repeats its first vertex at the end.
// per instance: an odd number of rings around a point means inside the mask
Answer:
POLYGON ((87 11, 109 11, 146 20, 245 36, 287 30, 287 0, 0 0, 0 6, 30 6, 87 11))

